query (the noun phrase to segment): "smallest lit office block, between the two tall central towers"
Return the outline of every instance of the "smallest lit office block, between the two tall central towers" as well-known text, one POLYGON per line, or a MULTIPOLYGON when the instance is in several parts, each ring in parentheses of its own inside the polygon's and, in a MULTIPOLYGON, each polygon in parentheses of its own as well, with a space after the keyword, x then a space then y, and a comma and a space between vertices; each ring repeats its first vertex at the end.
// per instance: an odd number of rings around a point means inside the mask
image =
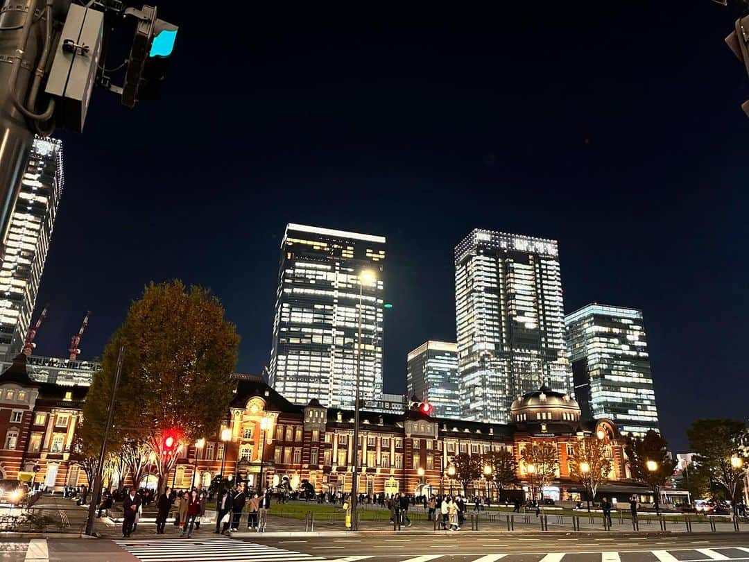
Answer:
POLYGON ((408 396, 426 400, 437 417, 461 417, 458 344, 425 342, 407 355, 408 396))

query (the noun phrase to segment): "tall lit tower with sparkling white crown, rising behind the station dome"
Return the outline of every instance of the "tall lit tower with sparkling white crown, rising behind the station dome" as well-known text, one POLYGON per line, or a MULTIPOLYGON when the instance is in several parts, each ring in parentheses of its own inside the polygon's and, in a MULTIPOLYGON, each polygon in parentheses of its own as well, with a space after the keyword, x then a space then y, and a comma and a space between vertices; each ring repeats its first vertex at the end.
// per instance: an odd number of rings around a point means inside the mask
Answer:
POLYGON ((466 419, 509 422, 542 384, 572 392, 557 241, 471 232, 455 247, 455 319, 466 419))

